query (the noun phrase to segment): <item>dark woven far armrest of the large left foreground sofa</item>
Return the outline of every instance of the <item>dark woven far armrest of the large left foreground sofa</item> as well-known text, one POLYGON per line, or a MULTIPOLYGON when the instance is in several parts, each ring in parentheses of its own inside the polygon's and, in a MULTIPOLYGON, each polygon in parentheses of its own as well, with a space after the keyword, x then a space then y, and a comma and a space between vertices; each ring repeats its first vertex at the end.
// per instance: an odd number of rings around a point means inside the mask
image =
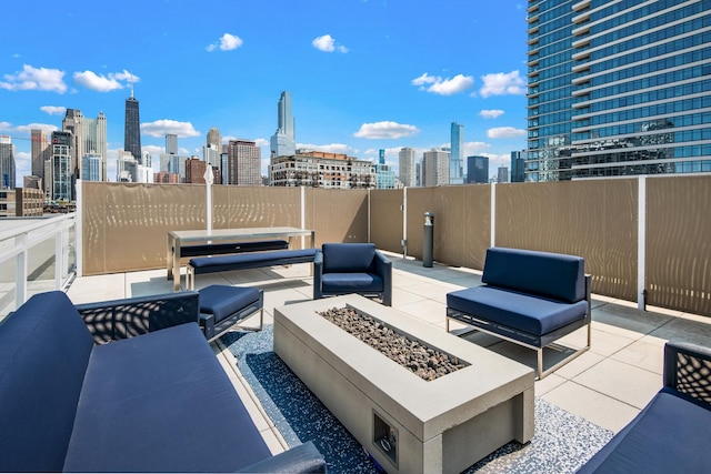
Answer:
POLYGON ((199 296, 197 291, 189 291, 77 304, 74 307, 94 342, 102 344, 178 324, 198 323, 199 296))

